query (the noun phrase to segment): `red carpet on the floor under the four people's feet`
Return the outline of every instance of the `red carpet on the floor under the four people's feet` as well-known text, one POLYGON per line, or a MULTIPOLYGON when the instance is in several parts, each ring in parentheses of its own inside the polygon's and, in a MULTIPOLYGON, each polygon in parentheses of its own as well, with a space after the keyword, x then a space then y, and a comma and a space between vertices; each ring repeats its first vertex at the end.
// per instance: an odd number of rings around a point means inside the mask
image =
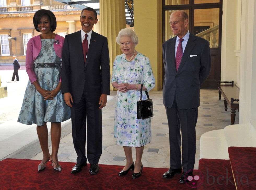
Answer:
POLYGON ((0 189, 191 189, 178 182, 180 174, 163 179, 167 168, 144 167, 142 175, 132 179, 132 171, 119 177, 123 166, 100 164, 96 175, 89 173, 90 165, 77 174, 71 174, 75 163, 60 162, 62 171, 57 172, 48 162, 46 169, 38 172, 41 161, 28 159, 5 159, 0 161, 0 189))

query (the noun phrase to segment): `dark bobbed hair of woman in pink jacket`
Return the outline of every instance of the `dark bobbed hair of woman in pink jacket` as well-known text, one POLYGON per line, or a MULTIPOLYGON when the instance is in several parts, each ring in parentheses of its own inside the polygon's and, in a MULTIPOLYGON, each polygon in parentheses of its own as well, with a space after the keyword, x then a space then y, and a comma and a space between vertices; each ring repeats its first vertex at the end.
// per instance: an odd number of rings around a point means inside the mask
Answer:
POLYGON ((46 9, 40 9, 38 11, 36 11, 36 13, 34 14, 33 17, 33 24, 34 27, 36 29, 36 31, 41 32, 38 28, 38 23, 40 22, 40 19, 42 18, 42 16, 48 16, 51 22, 51 31, 55 31, 56 27, 57 27, 57 21, 56 21, 56 17, 53 14, 53 12, 46 10, 46 9))

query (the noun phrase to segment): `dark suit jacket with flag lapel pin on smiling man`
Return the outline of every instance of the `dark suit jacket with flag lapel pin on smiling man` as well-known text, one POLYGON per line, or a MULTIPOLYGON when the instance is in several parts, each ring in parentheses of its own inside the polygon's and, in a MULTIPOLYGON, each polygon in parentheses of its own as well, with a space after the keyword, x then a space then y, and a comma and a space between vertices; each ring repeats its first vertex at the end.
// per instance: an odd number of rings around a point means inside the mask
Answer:
POLYGON ((89 101, 98 103, 101 94, 109 95, 110 67, 107 38, 92 31, 84 63, 81 31, 65 36, 62 49, 62 93, 70 92, 74 103, 81 100, 84 86, 90 91, 89 101))

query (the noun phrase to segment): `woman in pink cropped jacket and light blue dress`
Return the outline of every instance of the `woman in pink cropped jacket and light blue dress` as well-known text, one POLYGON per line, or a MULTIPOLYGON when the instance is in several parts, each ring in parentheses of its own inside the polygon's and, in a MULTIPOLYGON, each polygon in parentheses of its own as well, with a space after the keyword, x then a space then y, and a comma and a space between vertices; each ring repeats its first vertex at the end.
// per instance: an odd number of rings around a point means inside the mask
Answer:
POLYGON ((56 18, 49 10, 38 10, 33 24, 40 35, 27 43, 26 71, 29 77, 18 122, 26 125, 37 124, 37 135, 43 151, 38 171, 50 160, 54 170, 61 171, 58 150, 61 137, 61 123, 71 118, 69 107, 61 93, 61 55, 64 38, 53 31, 56 18), (49 153, 48 129, 51 122, 52 152, 49 153))

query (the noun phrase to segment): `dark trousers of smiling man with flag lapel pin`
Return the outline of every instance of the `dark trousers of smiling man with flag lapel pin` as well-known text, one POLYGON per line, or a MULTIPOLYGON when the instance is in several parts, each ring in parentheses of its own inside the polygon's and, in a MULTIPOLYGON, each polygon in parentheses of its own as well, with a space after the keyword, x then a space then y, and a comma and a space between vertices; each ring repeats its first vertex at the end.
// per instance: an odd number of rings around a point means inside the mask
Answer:
MULTIPOLYGON (((89 90, 88 90, 89 91, 89 90)), ((87 158, 90 164, 98 163, 102 154, 102 116, 100 105, 88 100, 88 92, 84 89, 79 103, 72 103, 72 137, 77 153, 77 163, 86 163, 86 128, 87 158), (87 120, 87 122, 86 122, 87 120), (86 125, 87 124, 87 125, 86 125)))

